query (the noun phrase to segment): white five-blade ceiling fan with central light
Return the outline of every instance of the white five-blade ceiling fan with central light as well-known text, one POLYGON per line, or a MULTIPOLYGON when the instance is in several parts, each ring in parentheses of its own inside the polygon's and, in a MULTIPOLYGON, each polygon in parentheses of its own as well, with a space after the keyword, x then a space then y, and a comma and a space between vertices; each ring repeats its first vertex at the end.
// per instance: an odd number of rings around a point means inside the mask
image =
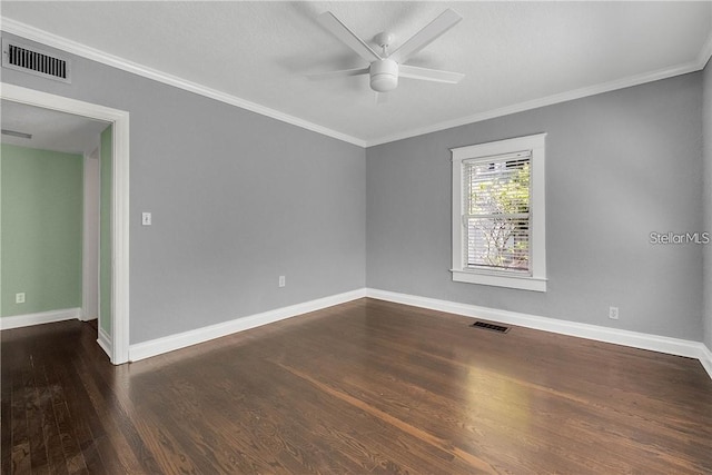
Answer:
POLYGON ((388 92, 398 86, 398 78, 421 79, 425 81, 457 83, 465 75, 459 72, 441 71, 436 69, 419 68, 404 65, 413 55, 421 51, 447 30, 457 24, 463 18, 454 10, 447 9, 425 28, 400 44, 395 51, 388 52, 388 47, 394 36, 388 32, 376 34, 374 40, 380 47, 380 55, 374 51, 364 40, 348 29, 330 11, 317 17, 318 22, 342 40, 356 55, 368 61, 366 68, 345 69, 340 71, 322 72, 310 75, 312 78, 370 76, 370 88, 376 92, 388 92))

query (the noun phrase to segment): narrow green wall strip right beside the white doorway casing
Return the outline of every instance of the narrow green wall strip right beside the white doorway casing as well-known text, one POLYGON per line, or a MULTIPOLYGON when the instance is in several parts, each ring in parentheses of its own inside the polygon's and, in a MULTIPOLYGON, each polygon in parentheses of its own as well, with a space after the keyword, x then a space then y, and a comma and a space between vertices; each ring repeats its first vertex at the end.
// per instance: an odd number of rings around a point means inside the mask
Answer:
POLYGON ((99 325, 111 335, 111 126, 101 132, 101 205, 99 238, 99 325))

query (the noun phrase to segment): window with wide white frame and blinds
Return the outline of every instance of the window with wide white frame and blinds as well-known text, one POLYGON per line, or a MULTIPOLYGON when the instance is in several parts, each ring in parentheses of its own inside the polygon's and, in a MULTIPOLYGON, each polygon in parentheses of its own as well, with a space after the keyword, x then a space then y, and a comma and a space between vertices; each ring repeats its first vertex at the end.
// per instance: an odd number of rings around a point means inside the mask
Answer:
POLYGON ((452 149, 453 280, 546 291, 545 137, 452 149))

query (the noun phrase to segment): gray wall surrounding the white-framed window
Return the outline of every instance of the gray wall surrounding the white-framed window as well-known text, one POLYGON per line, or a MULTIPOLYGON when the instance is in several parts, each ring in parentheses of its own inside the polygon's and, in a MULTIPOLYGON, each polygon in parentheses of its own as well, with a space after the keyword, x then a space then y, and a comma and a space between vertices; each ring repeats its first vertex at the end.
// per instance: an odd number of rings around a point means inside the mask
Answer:
POLYGON ((649 235, 702 226, 701 103, 692 73, 368 148, 367 286, 700 340, 702 246, 649 235), (548 290, 453 283, 448 149, 537 132, 548 290))

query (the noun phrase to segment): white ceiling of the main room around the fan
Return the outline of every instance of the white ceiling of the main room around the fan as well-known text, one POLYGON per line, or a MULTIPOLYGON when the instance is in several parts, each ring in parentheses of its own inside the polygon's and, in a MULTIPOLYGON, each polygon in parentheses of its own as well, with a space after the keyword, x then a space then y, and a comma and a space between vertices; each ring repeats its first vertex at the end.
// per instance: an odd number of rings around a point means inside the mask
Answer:
POLYGON ((709 1, 3 0, 2 16, 6 31, 98 50, 109 63, 359 145, 699 70, 712 52, 709 1), (377 105, 367 76, 306 78, 367 66, 317 14, 332 11, 367 41, 388 30, 397 47, 446 8, 464 20, 407 62, 463 72, 459 85, 402 79, 377 105))

